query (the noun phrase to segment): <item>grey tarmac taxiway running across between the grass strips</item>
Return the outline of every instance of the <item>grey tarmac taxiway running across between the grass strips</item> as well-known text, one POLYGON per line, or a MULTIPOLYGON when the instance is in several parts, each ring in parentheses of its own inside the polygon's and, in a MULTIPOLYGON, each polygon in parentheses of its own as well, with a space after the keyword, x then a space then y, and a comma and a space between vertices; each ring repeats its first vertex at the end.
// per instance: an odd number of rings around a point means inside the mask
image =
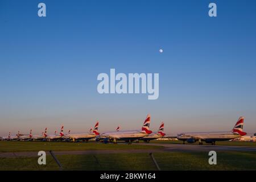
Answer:
MULTIPOLYGON (((109 143, 112 144, 112 143, 109 143)), ((123 143, 122 143, 123 144, 123 143)), ((256 147, 244 146, 211 146, 196 144, 171 144, 171 143, 133 143, 133 145, 163 146, 160 149, 130 149, 130 150, 84 150, 84 151, 54 151, 55 155, 96 155, 96 154, 133 154, 150 152, 209 152, 209 151, 250 151, 255 152, 256 147)), ((49 152, 46 152, 49 155, 49 152)), ((0 158, 35 157, 36 151, 28 152, 0 152, 0 158)))

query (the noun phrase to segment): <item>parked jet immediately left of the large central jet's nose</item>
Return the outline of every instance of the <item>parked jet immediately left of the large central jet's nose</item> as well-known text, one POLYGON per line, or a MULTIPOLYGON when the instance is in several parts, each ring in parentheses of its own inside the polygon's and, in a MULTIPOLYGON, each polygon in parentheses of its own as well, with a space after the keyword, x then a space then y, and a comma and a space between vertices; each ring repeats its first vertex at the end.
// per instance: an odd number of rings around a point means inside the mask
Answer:
POLYGON ((98 121, 97 121, 93 131, 92 129, 90 129, 90 133, 68 134, 67 137, 73 140, 73 142, 75 142, 76 140, 83 140, 88 142, 89 139, 95 138, 99 134, 100 133, 98 133, 98 121))

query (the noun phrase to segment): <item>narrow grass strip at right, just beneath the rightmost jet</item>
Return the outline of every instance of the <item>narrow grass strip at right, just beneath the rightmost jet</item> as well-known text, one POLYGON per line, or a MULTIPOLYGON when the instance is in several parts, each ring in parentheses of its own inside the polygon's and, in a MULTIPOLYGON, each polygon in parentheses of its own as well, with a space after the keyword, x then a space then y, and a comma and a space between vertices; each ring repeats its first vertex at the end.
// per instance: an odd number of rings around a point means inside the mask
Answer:
MULTIPOLYGON (((141 142, 141 141, 140 141, 141 142)), ((142 142, 141 142, 142 143, 142 142)), ((183 144, 183 141, 180 140, 151 140, 150 143, 172 143, 172 144, 183 144)), ((203 142, 205 145, 211 145, 203 142)), ((198 144, 196 143, 187 143, 185 144, 198 144)), ((238 141, 223 141, 216 142, 216 146, 246 146, 246 147, 256 147, 256 142, 238 142, 238 141)))

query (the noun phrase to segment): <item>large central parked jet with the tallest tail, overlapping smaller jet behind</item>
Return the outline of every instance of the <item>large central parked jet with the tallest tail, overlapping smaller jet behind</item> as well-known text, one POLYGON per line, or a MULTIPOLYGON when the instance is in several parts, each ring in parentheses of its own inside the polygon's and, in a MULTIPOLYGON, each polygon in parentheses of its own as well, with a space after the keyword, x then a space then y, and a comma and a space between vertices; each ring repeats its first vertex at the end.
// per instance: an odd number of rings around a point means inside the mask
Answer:
POLYGON ((128 144, 131 144, 134 140, 141 139, 151 134, 150 127, 150 114, 147 115, 141 130, 131 131, 114 131, 102 134, 102 138, 109 139, 116 143, 116 140, 125 140, 128 144))

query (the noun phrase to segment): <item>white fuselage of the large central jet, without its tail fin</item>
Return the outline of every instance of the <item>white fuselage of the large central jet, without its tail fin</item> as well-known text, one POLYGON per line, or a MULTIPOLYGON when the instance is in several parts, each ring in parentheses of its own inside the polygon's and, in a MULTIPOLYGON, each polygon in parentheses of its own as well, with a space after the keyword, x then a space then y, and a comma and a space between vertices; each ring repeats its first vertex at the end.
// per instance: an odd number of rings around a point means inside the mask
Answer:
POLYGON ((117 139, 117 140, 134 140, 146 137, 148 134, 140 130, 132 131, 113 131, 102 134, 102 137, 117 139))

